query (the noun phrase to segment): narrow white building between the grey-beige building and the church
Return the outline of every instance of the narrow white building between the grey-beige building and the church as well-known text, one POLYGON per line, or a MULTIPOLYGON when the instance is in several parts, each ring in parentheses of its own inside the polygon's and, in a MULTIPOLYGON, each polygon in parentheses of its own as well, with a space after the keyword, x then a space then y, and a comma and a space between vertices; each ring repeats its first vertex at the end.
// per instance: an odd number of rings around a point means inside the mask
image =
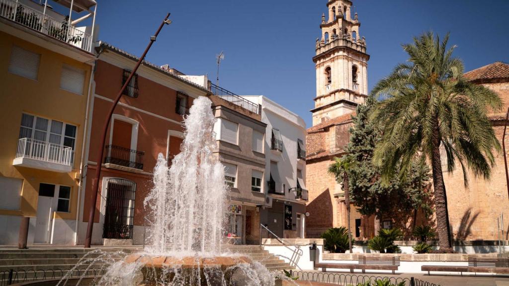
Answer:
POLYGON ((264 185, 270 207, 262 209, 261 223, 273 233, 269 237, 303 238, 307 201, 306 124, 265 96, 243 98, 261 105, 262 122, 267 124, 264 185))

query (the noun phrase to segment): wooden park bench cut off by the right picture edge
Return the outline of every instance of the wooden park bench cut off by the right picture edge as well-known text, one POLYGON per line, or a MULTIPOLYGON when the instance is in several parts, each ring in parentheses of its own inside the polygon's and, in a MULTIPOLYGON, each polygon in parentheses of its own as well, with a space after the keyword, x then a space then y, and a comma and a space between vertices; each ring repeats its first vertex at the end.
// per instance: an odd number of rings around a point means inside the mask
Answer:
POLYGON ((441 266, 441 265, 422 265, 421 271, 437 272, 473 272, 473 273, 500 273, 509 274, 509 258, 477 258, 469 257, 468 266, 441 266))

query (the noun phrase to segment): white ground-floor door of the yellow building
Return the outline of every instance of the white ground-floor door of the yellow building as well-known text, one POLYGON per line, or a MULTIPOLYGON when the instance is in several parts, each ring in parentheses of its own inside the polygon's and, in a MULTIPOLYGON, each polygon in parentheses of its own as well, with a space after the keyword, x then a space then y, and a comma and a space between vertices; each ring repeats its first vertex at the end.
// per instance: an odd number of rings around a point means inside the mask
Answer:
POLYGON ((37 218, 35 226, 35 243, 49 243, 49 232, 51 227, 51 214, 55 185, 40 184, 39 199, 37 202, 37 218))

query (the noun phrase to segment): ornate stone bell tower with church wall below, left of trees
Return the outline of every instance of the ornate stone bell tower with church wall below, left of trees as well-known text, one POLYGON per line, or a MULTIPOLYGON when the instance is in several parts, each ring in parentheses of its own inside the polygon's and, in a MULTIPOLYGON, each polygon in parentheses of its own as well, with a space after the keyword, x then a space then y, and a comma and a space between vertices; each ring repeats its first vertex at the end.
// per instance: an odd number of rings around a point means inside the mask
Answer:
MULTIPOLYGON (((307 129, 306 180, 309 202, 306 210, 306 237, 319 237, 330 227, 346 226, 344 192, 334 176, 327 173, 334 157, 345 154, 351 116, 363 104, 367 92, 366 41, 360 34, 357 13, 352 17, 349 0, 329 0, 327 16, 322 15, 321 38, 316 40, 317 90, 313 127, 307 129)), ((352 234, 370 237, 373 218, 351 208, 352 234)))

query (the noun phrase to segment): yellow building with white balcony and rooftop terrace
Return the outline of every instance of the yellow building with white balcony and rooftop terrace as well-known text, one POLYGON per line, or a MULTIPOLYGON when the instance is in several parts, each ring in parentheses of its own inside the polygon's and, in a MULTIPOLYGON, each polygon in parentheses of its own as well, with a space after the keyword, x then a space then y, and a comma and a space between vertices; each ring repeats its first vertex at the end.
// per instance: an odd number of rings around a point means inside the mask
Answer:
POLYGON ((0 244, 75 241, 96 2, 59 4, 0 2, 0 244))

